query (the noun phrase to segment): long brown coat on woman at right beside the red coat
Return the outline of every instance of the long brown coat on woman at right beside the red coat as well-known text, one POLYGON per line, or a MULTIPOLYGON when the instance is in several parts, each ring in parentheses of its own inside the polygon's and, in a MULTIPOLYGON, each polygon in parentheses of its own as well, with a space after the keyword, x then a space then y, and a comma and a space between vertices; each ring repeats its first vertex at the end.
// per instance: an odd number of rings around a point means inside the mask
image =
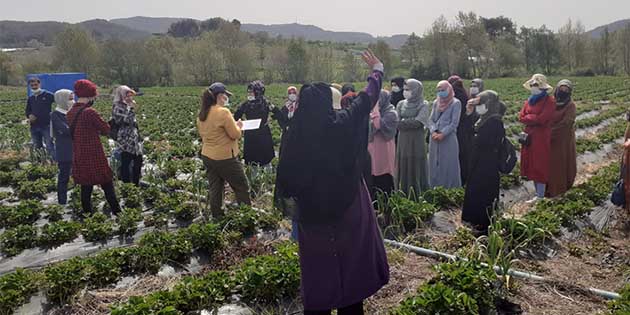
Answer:
POLYGON ((553 112, 549 182, 545 192, 547 197, 559 196, 573 187, 577 174, 575 115, 573 102, 553 112))

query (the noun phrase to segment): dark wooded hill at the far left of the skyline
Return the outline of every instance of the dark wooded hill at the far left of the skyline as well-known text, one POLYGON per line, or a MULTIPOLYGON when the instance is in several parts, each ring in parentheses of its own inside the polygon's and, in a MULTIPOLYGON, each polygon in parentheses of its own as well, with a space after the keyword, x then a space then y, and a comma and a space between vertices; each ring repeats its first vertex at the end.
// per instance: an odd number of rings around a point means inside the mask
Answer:
MULTIPOLYGON (((0 21, 0 46, 24 47, 33 39, 44 45, 52 45, 55 36, 70 25, 73 24, 64 22, 0 21)), ((111 38, 135 40, 151 36, 148 32, 110 23, 106 20, 89 20, 74 25, 90 31, 96 40, 111 38)))

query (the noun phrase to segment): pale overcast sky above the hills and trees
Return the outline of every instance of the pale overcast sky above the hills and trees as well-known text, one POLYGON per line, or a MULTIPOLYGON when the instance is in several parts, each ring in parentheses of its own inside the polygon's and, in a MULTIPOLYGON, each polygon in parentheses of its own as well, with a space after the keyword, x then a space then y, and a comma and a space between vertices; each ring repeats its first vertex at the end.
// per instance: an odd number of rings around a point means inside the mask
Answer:
POLYGON ((547 25, 557 30, 569 18, 587 30, 630 18, 630 0, 0 0, 0 20, 66 21, 121 18, 220 16, 243 23, 298 22, 327 30, 373 35, 424 33, 444 14, 453 20, 458 11, 484 17, 504 15, 519 26, 547 25))

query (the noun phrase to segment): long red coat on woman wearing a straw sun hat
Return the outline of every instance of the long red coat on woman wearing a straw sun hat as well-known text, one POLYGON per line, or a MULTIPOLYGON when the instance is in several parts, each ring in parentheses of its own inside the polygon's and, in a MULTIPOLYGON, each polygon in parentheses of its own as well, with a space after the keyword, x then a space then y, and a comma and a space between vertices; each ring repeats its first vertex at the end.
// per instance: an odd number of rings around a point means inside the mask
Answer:
POLYGON ((533 106, 526 101, 520 113, 520 122, 530 139, 530 144, 521 148, 521 176, 537 183, 549 181, 551 119, 555 110, 556 100, 546 96, 533 106))

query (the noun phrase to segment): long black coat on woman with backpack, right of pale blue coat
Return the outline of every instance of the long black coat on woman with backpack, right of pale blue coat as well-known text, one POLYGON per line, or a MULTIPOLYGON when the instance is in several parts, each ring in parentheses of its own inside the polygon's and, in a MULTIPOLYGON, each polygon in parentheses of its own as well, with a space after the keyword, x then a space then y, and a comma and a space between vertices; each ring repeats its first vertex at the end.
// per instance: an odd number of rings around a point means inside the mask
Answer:
POLYGON ((493 206, 499 200, 499 149, 504 136, 499 117, 488 119, 474 135, 462 220, 480 229, 490 225, 493 206))

